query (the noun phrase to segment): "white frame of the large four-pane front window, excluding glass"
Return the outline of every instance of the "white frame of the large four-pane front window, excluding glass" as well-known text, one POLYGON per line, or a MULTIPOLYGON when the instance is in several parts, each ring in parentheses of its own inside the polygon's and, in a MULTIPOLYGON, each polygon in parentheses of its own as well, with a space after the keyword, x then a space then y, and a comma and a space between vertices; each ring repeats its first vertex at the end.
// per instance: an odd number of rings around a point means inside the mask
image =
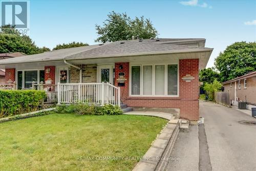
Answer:
POLYGON ((161 63, 130 63, 129 70, 129 96, 130 97, 179 97, 180 89, 180 74, 179 74, 179 62, 161 62, 161 63), (156 66, 164 65, 164 95, 155 95, 155 69, 156 66), (177 65, 178 67, 178 80, 177 80, 177 95, 168 95, 167 87, 167 76, 168 76, 168 65, 177 65), (132 67, 140 66, 140 95, 132 95, 132 67), (152 95, 143 95, 143 66, 152 66, 152 95))

